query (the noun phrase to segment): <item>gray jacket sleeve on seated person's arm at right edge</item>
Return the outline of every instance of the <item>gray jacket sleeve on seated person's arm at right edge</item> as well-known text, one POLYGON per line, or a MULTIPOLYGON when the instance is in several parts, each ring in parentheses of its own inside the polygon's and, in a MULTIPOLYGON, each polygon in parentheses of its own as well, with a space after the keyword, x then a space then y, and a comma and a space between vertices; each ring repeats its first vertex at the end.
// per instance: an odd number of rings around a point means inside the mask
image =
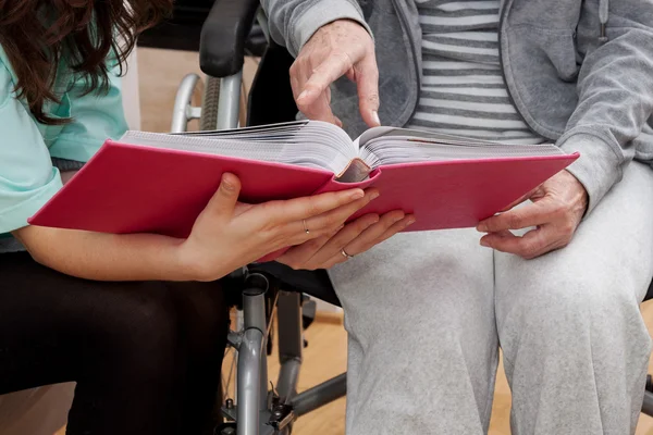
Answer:
MULTIPOLYGON (((597 13, 592 11, 597 2, 583 8, 588 16, 597 13)), ((637 0, 611 4, 604 44, 596 44, 594 21, 579 26, 579 45, 588 52, 578 75, 578 105, 558 145, 580 152, 569 172, 589 194, 589 212, 621 178, 636 152, 632 140, 653 113, 653 21, 644 9, 637 0)))

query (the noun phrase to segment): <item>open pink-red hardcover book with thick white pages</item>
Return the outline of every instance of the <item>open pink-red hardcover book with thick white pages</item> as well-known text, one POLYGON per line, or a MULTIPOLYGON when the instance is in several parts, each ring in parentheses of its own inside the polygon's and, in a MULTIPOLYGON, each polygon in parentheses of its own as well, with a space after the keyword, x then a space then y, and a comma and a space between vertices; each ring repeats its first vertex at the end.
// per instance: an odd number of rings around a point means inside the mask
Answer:
POLYGON ((242 200, 379 188, 364 213, 402 209, 408 231, 475 226, 578 158, 554 145, 502 145, 394 127, 352 140, 316 121, 180 135, 128 132, 100 151, 32 220, 34 225, 184 237, 220 184, 242 200))

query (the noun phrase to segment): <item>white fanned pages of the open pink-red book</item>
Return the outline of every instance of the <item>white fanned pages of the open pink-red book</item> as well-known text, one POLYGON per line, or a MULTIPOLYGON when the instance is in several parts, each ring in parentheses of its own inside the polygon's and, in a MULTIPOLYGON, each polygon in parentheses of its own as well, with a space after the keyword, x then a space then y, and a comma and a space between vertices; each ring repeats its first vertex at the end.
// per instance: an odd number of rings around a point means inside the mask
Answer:
POLYGON ((394 127, 371 128, 352 140, 343 129, 320 121, 183 136, 128 132, 120 141, 321 169, 341 183, 362 182, 375 167, 401 163, 564 156, 551 144, 502 145, 394 127))

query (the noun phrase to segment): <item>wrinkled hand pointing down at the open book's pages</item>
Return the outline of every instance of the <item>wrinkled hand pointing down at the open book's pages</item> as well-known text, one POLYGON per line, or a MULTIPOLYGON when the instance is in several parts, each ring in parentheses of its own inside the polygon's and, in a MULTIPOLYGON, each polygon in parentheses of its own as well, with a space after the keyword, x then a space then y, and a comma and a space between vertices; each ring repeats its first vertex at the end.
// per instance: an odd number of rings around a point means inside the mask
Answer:
POLYGON ((345 74, 357 85, 362 120, 370 127, 380 125, 374 42, 365 27, 349 20, 320 27, 291 66, 291 85, 299 111, 309 120, 342 126, 331 111, 329 85, 345 74))

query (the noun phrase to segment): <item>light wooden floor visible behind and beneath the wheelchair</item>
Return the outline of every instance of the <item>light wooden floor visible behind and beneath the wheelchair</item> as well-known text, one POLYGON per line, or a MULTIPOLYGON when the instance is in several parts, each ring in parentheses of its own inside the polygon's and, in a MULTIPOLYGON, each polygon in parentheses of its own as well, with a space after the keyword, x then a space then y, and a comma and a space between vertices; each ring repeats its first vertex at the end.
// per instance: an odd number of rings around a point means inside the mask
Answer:
MULTIPOLYGON (((140 98, 143 129, 165 132, 169 129, 174 94, 182 77, 198 71, 196 53, 144 50, 138 52, 140 70, 140 98)), ((653 333, 653 301, 642 307, 649 331, 653 333)), ((317 323, 306 333, 309 347, 299 380, 299 389, 306 389, 333 377, 346 369, 346 334, 342 325, 317 323)), ((278 363, 272 359, 270 378, 274 380, 278 363)), ((650 373, 653 373, 651 364, 650 373)), ((509 431, 510 393, 500 368, 497 375, 490 435, 507 435, 509 431)), ((296 435, 344 434, 345 399, 331 403, 303 419, 295 426, 296 435)), ((63 435, 61 432, 58 435, 63 435)), ((119 435, 119 434, 116 434, 119 435)), ((637 435, 653 435, 653 419, 640 419, 637 435)))

